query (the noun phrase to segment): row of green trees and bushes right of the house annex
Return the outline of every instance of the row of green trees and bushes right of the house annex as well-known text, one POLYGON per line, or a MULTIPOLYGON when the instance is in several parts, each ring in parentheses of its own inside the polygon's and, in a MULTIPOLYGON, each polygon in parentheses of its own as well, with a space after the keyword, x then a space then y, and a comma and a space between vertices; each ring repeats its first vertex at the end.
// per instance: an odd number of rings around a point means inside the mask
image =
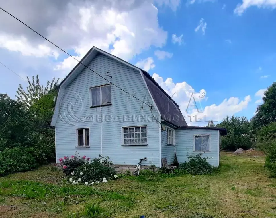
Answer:
POLYGON ((255 115, 248 121, 246 117, 228 117, 217 125, 211 120, 209 127, 224 127, 227 136, 222 136, 221 147, 235 151, 238 148, 257 148, 264 151, 265 165, 276 175, 276 82, 268 87, 255 115))

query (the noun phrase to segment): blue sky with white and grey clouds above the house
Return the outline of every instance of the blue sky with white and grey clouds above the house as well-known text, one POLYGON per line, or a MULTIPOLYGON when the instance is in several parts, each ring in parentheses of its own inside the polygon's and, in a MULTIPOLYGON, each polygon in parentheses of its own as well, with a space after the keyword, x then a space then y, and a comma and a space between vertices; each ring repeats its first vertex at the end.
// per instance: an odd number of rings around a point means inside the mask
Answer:
MULTIPOLYGON (((276 79, 275 0, 71 1, 75 7, 49 1, 22 10, 0 3, 78 59, 95 45, 144 68, 170 95, 176 93, 183 114, 191 93, 204 91, 205 98, 196 100, 207 117, 251 118, 255 102, 276 79), (36 7, 49 16, 35 19, 40 16, 36 7), (63 11, 51 16, 58 7, 63 11), (156 55, 158 51, 166 56, 156 55)), ((1 63, 23 78, 39 74, 42 83, 64 78, 73 68, 75 62, 66 55, 8 15, 0 16, 12 24, 0 26, 1 63)), ((14 98, 18 84, 26 86, 2 65, 0 75, 0 93, 14 98)))

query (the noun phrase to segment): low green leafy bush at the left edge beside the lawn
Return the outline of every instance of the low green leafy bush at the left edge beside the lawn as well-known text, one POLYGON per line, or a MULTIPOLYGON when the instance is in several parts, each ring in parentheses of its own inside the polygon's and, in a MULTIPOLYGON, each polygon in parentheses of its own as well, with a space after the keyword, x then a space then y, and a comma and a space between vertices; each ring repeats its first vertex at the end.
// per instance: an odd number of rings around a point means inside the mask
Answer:
POLYGON ((38 167, 33 148, 6 148, 0 152, 0 176, 38 167))

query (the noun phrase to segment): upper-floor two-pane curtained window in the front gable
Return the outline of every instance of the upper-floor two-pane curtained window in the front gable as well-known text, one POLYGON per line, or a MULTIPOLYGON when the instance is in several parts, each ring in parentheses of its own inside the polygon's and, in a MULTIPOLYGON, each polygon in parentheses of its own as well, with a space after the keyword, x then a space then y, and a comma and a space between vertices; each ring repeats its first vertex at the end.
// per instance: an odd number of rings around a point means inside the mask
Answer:
POLYGON ((111 85, 103 85, 90 88, 91 106, 111 104, 111 85))

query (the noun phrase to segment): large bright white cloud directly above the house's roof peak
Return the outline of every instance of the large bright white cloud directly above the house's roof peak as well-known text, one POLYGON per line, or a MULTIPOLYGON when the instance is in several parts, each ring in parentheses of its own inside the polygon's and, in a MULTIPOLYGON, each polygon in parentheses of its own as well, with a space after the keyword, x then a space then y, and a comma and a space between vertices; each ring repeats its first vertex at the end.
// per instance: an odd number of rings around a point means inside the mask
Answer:
MULTIPOLYGON (((72 10, 72 13, 75 13, 75 9, 72 10)), ((165 45, 167 32, 159 27, 157 14, 158 9, 149 2, 141 3, 139 7, 124 12, 114 9, 97 11, 93 5, 80 8, 79 16, 83 22, 79 31, 83 33, 83 36, 75 46, 78 60, 93 46, 126 61, 143 50, 149 49, 152 45, 162 47, 165 45), (113 45, 113 48, 109 49, 109 45, 113 45)), ((70 29, 70 24, 66 28, 70 29)), ((64 62, 66 63, 60 63, 57 68, 66 66, 71 68, 75 64, 70 57, 64 62)))

